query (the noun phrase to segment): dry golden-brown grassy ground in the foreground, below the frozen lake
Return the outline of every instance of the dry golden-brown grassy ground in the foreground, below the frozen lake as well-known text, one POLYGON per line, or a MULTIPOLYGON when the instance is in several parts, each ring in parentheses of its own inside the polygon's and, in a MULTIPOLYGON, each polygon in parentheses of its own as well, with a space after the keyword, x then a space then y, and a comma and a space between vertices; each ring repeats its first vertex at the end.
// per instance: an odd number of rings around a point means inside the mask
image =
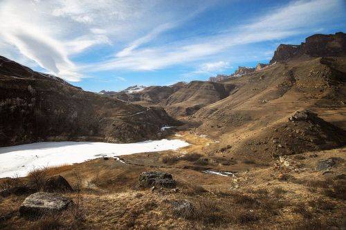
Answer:
MULTIPOLYGON (((47 171, 48 175, 64 176, 74 188, 81 188, 80 192, 66 193, 77 205, 58 215, 21 218, 17 210, 26 196, 10 195, 0 198, 0 228, 345 227, 345 147, 280 157, 264 164, 215 157, 205 148, 217 145, 217 140, 193 131, 172 133, 172 138, 183 139, 191 145, 176 151, 124 155, 120 159, 101 157, 47 171), (336 164, 324 171, 316 169, 321 160, 331 157, 336 164), (143 171, 172 173, 177 181, 177 190, 141 188, 138 175, 143 171), (191 202, 193 211, 174 212, 172 205, 181 200, 191 202)), ((20 180, 25 182, 30 177, 20 180)), ((1 182, 6 184, 6 180, 1 182)))

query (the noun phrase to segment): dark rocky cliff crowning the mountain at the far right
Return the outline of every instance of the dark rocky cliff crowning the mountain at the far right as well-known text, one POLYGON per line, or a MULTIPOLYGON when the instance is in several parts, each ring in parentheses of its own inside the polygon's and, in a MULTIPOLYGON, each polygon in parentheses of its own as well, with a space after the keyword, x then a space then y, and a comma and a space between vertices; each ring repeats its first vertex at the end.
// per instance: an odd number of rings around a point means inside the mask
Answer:
POLYGON ((346 55, 346 34, 312 35, 300 45, 280 44, 274 52, 274 62, 287 62, 293 57, 309 55, 310 57, 343 57, 346 55))

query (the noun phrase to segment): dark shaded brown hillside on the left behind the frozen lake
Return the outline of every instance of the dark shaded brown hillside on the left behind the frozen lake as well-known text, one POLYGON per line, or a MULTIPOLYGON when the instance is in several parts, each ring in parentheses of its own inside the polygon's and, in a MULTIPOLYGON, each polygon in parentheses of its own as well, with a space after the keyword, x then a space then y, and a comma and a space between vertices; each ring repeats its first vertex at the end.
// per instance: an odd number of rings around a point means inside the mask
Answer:
POLYGON ((49 140, 135 142, 176 124, 159 107, 86 92, 0 57, 0 146, 49 140))

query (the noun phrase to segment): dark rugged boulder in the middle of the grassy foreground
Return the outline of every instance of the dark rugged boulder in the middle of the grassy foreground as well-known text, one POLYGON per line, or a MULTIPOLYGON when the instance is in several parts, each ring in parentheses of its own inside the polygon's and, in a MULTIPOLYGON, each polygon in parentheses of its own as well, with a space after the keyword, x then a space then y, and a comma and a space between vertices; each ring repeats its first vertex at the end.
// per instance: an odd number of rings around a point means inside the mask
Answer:
POLYGON ((161 186, 165 188, 174 188, 176 186, 172 174, 160 171, 145 171, 139 175, 139 184, 143 187, 161 186))

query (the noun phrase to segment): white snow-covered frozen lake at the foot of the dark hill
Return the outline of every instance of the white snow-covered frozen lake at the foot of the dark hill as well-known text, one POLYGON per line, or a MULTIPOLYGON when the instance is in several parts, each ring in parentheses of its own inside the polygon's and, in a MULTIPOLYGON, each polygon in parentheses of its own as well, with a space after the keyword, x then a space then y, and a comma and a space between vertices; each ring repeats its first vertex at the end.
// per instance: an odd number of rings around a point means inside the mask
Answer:
POLYGON ((183 140, 154 140, 131 144, 103 142, 39 142, 0 148, 0 178, 26 176, 42 166, 81 163, 98 157, 176 150, 183 140))

